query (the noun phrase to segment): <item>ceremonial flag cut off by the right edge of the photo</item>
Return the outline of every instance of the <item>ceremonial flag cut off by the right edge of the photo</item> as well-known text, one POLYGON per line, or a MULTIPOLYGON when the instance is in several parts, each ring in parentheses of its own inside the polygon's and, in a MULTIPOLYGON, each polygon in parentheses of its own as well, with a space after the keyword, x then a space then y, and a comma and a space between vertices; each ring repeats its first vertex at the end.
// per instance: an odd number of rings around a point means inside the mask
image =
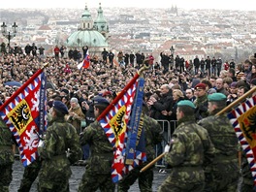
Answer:
POLYGON ((256 185, 256 96, 229 112, 228 117, 246 153, 254 185, 256 185))

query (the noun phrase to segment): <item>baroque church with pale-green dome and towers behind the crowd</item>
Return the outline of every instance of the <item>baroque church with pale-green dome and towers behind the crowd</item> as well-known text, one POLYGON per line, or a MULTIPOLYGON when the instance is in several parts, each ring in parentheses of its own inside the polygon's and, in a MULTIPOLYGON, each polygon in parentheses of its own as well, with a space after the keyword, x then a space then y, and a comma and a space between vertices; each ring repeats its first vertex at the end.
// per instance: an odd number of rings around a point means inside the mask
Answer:
POLYGON ((103 16, 101 3, 99 4, 98 16, 95 20, 85 6, 80 18, 78 31, 72 33, 66 41, 67 48, 89 48, 90 54, 101 54, 103 48, 108 49, 109 25, 103 16))

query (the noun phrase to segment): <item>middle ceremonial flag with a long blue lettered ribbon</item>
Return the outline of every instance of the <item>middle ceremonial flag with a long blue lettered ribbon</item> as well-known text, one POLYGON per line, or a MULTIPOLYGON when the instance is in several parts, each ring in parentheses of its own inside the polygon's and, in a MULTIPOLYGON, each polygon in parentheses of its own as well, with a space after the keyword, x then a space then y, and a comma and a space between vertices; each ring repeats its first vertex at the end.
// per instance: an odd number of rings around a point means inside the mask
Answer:
POLYGON ((145 158, 141 119, 144 80, 137 74, 101 113, 101 123, 113 148, 112 181, 118 182, 145 158), (140 150, 139 150, 140 147, 140 150))

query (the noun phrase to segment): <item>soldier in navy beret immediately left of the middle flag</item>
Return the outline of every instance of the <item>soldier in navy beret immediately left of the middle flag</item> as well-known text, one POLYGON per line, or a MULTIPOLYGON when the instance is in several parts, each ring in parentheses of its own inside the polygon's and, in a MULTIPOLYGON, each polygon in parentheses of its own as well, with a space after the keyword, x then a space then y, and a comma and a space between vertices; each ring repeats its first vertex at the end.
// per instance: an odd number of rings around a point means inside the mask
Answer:
MULTIPOLYGON (((97 118, 109 105, 109 101, 101 96, 93 99, 94 114, 97 118)), ((112 182, 112 144, 108 140, 99 121, 94 121, 80 134, 80 144, 89 144, 91 155, 88 159, 85 173, 83 174, 79 192, 101 191, 113 192, 112 182)))

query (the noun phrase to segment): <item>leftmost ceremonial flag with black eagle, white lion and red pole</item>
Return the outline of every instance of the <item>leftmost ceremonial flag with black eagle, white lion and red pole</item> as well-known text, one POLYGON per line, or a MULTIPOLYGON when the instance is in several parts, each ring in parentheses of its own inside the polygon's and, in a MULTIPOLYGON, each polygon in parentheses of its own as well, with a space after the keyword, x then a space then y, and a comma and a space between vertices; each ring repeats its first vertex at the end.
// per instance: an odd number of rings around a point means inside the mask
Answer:
POLYGON ((38 157, 39 135, 47 128, 46 77, 38 70, 0 107, 0 115, 18 144, 23 166, 38 157))

